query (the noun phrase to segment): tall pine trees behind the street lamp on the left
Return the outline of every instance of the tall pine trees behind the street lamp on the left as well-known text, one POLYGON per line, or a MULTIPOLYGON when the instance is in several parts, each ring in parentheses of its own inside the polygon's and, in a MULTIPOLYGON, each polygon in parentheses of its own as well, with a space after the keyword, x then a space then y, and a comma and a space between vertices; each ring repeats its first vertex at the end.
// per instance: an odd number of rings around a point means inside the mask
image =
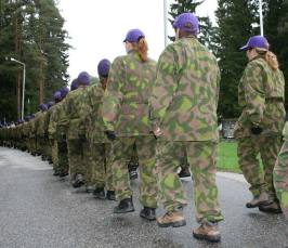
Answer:
POLYGON ((25 115, 39 109, 41 80, 45 103, 67 84, 70 45, 63 24, 54 0, 0 1, 0 121, 17 120, 19 116, 15 93, 16 82, 22 84, 23 66, 11 62, 11 57, 26 65, 25 115))

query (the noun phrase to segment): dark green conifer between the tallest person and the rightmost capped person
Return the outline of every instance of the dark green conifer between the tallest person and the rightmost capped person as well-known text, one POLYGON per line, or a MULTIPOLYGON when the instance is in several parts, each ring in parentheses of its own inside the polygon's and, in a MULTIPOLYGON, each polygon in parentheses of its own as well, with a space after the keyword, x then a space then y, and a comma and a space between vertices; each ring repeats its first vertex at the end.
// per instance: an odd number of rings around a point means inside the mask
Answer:
POLYGON ((238 83, 248 63, 246 53, 239 51, 248 39, 259 34, 253 27, 259 21, 258 6, 252 0, 219 0, 215 11, 218 28, 213 42, 221 69, 219 116, 234 118, 240 115, 238 83))

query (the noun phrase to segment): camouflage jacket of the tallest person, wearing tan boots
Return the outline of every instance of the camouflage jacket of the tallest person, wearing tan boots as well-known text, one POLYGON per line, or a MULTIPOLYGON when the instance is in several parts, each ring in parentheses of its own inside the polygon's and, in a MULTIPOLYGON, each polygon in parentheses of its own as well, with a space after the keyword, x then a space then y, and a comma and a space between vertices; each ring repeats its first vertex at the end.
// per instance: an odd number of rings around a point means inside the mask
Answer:
POLYGON ((161 53, 150 97, 150 129, 158 140, 218 142, 220 69, 213 54, 193 36, 161 53))

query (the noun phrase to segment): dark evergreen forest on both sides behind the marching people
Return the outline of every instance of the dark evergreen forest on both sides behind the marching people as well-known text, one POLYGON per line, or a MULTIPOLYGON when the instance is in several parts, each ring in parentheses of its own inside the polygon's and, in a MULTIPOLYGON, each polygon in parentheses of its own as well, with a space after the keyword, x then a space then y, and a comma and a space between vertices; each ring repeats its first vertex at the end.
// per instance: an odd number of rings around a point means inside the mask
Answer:
MULTIPOLYGON (((181 13, 195 13, 204 1, 175 0, 170 4, 170 23, 181 13)), ((287 80, 288 0, 262 0, 262 9, 264 36, 287 80)), ((260 34, 259 0, 218 0, 217 24, 209 16, 197 17, 199 40, 217 56, 221 69, 219 116, 236 118, 238 82, 248 63, 239 48, 260 34)), ((70 38, 63 25, 55 0, 0 0, 0 123, 21 119, 24 67, 11 58, 26 66, 25 115, 53 101, 54 92, 70 80, 70 38)), ((287 94, 286 86, 286 108, 287 94)))

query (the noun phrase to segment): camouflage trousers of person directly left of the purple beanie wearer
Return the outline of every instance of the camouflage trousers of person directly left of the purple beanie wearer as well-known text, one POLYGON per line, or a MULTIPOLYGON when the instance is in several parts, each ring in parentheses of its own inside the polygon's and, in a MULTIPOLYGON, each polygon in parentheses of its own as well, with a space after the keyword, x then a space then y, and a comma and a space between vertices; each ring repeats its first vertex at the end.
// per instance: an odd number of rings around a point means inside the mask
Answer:
POLYGON ((68 140, 67 147, 73 182, 77 174, 82 174, 86 185, 91 185, 92 153, 89 142, 83 143, 80 139, 68 140))

